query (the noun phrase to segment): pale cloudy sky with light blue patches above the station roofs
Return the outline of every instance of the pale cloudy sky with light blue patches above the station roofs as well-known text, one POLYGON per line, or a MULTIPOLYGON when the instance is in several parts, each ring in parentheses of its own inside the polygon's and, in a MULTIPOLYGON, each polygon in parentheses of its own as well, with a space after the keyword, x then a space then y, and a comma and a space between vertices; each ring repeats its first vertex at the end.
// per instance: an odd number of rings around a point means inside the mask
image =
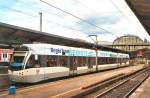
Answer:
POLYGON ((150 39, 124 0, 43 1, 71 15, 40 0, 0 0, 0 22, 39 30, 42 12, 42 31, 50 34, 88 42, 93 42, 89 35, 109 42, 127 34, 150 39))

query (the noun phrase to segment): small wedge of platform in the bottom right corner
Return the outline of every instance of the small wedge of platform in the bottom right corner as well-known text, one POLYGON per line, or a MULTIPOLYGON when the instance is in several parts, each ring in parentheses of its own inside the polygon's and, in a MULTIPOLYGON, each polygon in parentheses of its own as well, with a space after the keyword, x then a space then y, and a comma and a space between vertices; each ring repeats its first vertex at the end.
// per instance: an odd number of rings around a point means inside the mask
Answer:
POLYGON ((129 98, 150 98, 150 77, 129 98))

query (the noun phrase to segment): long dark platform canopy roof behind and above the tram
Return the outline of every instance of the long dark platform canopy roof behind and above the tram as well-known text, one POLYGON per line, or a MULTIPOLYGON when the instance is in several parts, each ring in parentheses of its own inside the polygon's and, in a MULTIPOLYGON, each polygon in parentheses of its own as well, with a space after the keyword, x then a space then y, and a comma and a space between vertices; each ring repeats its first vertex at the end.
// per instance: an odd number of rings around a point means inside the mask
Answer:
MULTIPOLYGON (((7 46, 10 47, 12 45, 31 44, 33 42, 49 43, 71 47, 81 47, 88 49, 91 49, 94 46, 93 43, 85 42, 82 40, 80 41, 77 39, 62 37, 46 32, 40 32, 0 22, 1 47, 6 48, 7 46)), ((98 45, 98 49, 126 53, 123 50, 113 49, 101 45, 98 45)))

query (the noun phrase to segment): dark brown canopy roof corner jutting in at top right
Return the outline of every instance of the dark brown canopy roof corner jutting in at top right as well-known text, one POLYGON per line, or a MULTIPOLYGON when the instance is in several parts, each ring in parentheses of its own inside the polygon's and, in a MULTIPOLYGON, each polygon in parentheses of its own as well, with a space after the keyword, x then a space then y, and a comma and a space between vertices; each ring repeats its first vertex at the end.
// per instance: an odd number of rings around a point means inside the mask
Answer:
POLYGON ((126 0, 150 35, 150 0, 126 0))

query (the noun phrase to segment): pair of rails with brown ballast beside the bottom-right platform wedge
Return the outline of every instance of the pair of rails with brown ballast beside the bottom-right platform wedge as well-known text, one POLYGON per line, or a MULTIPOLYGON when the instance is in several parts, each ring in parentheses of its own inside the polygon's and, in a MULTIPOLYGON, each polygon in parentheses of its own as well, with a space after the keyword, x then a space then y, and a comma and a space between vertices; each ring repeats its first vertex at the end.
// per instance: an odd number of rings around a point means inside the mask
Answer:
POLYGON ((147 73, 143 73, 138 77, 127 79, 95 98, 127 98, 148 76, 147 73))

